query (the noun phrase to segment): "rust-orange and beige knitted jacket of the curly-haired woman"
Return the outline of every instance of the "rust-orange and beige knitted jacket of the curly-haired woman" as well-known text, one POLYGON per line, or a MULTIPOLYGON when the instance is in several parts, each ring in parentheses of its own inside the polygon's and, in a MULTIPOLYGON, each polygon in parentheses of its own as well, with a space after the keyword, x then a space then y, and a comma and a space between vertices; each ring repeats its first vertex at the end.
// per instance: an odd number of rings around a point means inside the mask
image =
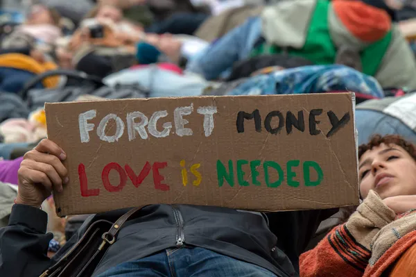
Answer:
POLYGON ((416 211, 396 216, 370 192, 347 223, 300 256, 300 276, 408 276, 410 268, 395 265, 415 259, 415 243, 416 211))

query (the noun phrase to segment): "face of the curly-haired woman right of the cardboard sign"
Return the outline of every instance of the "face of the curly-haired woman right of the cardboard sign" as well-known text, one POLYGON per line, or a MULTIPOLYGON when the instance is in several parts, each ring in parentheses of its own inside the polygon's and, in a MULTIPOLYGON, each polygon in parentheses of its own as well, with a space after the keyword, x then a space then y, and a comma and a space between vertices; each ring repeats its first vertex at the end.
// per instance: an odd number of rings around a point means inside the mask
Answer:
POLYGON ((361 156, 358 166, 363 198, 370 190, 381 199, 416 195, 416 161, 396 144, 380 144, 361 156))

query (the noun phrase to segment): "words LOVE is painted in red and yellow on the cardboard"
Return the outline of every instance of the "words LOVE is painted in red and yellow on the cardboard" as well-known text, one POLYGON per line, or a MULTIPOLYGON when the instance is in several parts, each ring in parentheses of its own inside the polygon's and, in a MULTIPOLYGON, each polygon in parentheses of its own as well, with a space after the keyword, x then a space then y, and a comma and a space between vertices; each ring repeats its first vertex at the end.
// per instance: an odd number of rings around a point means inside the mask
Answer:
MULTIPOLYGON (((187 165, 185 160, 181 160, 180 166, 182 167, 182 183, 185 186, 189 183, 189 174, 187 170, 187 165)), ((166 192, 171 189, 166 183, 162 183, 165 178, 160 173, 161 169, 168 167, 167 162, 154 162, 153 165, 150 162, 146 162, 144 167, 141 169, 139 175, 130 167, 130 165, 125 165, 124 168, 121 167, 117 162, 110 162, 103 168, 101 173, 101 180, 103 181, 103 187, 107 192, 121 192, 125 185, 128 183, 128 178, 135 187, 139 187, 143 183, 144 179, 150 174, 150 171, 153 173, 153 183, 155 185, 155 190, 161 190, 166 192), (115 171, 116 174, 119 174, 119 184, 110 183, 110 172, 115 171)), ((202 175, 198 171, 200 164, 194 164, 190 166, 191 174, 195 177, 195 180, 192 181, 192 184, 199 186, 202 181, 202 175)), ((81 196, 98 196, 100 194, 100 189, 89 189, 88 188, 88 178, 87 172, 85 172, 85 165, 80 163, 78 165, 78 177, 80 180, 80 190, 81 196)))

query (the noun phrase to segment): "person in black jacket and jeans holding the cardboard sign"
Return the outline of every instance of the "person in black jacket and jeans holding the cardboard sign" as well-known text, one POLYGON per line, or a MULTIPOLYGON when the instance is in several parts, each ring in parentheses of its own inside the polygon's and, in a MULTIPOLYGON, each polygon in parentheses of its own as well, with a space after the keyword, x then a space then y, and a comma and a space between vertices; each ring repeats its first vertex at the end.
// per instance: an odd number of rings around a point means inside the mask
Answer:
MULTIPOLYGON (((42 140, 24 156, 10 221, 0 229, 0 276, 40 276, 77 243, 89 224, 128 211, 92 215, 52 260, 47 258, 52 235, 45 234, 46 212, 39 208, 52 190, 60 193, 69 182, 62 164, 66 158, 51 140, 42 140)), ((121 228, 92 276, 298 276, 300 253, 320 221, 336 210, 265 214, 196 205, 147 205, 139 217, 121 228), (186 226, 187 232, 178 224, 186 226)))

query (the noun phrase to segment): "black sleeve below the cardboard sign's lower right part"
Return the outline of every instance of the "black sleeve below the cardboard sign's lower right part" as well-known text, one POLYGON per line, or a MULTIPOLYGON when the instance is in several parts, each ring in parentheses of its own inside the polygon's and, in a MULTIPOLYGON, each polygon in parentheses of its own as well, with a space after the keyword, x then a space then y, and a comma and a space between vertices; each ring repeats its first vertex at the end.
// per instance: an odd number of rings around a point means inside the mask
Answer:
POLYGON ((277 247, 286 253, 297 272, 299 256, 306 250, 319 224, 338 210, 298 210, 268 214, 270 230, 277 236, 277 247))

